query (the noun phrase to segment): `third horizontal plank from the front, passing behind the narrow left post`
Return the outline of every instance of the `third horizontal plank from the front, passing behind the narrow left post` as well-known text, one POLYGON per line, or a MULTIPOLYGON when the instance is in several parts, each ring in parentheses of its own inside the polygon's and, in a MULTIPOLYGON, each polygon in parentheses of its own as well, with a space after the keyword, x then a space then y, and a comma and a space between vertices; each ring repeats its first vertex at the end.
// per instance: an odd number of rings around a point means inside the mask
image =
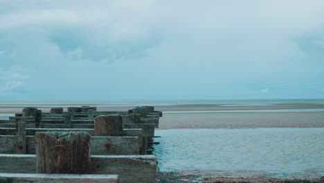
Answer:
MULTIPOLYGON (((138 155, 142 139, 132 137, 91 137, 91 155, 138 155), (110 146, 107 147, 106 143, 110 146)), ((0 135, 0 153, 15 153, 14 135, 0 135)), ((35 137, 26 137, 26 154, 35 155, 35 137)))

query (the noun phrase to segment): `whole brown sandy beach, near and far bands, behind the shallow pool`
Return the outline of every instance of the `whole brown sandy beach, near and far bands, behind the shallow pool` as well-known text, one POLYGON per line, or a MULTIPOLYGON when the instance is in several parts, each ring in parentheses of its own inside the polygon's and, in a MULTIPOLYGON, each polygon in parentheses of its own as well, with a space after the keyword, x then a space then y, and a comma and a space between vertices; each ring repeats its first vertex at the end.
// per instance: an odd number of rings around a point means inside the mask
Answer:
MULTIPOLYGON (((98 111, 127 111, 134 106, 98 107, 98 111)), ((49 112, 51 107, 38 107, 49 112)), ((20 113, 22 107, 0 107, 0 114, 20 113)), ((66 110, 66 108, 64 108, 66 110)), ((324 105, 281 103, 276 105, 158 105, 162 111, 159 129, 172 128, 324 128, 324 105), (277 110, 320 112, 280 112, 277 110), (255 110, 269 110, 258 112, 255 110), (274 110, 275 112, 271 112, 274 110), (244 112, 242 112, 244 111, 244 112)), ((3 117, 1 117, 3 118, 3 117)))

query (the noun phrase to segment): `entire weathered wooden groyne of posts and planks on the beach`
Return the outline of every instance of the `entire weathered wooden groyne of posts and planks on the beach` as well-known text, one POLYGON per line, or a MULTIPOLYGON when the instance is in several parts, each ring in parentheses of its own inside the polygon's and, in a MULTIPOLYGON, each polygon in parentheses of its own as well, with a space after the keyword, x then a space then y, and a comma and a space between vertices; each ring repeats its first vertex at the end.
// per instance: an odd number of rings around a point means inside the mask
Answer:
POLYGON ((0 120, 0 182, 156 182, 156 157, 149 154, 161 116, 152 106, 49 113, 26 107, 0 120))

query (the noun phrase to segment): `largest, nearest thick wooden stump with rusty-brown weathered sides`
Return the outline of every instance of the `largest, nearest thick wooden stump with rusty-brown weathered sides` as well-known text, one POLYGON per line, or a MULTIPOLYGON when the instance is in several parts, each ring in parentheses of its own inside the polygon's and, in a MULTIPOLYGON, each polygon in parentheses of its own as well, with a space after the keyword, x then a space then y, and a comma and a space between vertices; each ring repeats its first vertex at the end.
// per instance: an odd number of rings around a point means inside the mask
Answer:
POLYGON ((87 132, 37 132, 37 173, 87 173, 90 139, 87 132))

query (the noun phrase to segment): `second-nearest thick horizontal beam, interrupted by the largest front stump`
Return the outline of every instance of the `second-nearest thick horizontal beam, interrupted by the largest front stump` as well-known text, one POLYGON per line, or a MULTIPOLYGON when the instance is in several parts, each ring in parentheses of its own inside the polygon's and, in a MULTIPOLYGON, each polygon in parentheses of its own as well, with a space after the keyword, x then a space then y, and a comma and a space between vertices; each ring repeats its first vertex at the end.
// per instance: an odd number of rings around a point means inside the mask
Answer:
MULTIPOLYGON (((35 173, 35 155, 0 154, 1 173, 35 173), (24 168, 21 168, 24 167, 24 168)), ((119 175, 120 183, 156 182, 154 155, 92 155, 89 174, 119 175)))

